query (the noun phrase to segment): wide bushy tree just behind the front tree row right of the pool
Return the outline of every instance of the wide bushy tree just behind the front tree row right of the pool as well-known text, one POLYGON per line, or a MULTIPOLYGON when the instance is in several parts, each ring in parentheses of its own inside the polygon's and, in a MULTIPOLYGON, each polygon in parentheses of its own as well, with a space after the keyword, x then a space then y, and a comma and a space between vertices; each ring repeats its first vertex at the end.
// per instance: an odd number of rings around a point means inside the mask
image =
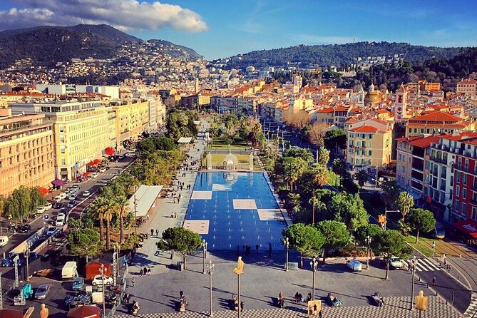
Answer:
POLYGON ((326 215, 329 220, 343 222, 350 231, 368 224, 369 220, 369 214, 359 195, 344 192, 332 196, 326 215))

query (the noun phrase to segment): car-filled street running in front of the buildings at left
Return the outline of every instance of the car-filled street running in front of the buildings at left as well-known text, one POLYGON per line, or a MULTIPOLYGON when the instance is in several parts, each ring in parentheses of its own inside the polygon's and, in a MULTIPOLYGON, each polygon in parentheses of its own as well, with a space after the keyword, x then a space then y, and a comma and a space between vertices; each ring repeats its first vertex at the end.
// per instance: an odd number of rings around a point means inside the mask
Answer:
MULTIPOLYGON (((120 160, 120 162, 118 162, 118 163, 110 163, 110 165, 109 165, 110 169, 107 170, 105 173, 99 173, 98 178, 96 178, 96 179, 91 178, 90 180, 88 180, 86 182, 83 182, 83 183, 67 183, 66 185, 64 185, 63 189, 68 188, 69 186, 71 186, 73 184, 79 185, 80 190, 78 191, 78 195, 81 195, 86 190, 88 190, 92 193, 92 195, 90 195, 88 198, 86 198, 86 200, 83 200, 83 198, 79 197, 79 198, 81 198, 80 200, 82 200, 82 201, 80 202, 80 204, 78 204, 76 207, 74 207, 71 210, 70 217, 78 217, 78 215, 80 215, 81 212, 84 209, 86 209, 88 204, 91 203, 94 200, 94 198, 95 198, 94 193, 96 193, 96 191, 98 191, 98 189, 102 185, 105 185, 106 182, 108 182, 108 180, 111 180, 111 178, 113 178, 114 175, 118 175, 118 173, 121 170, 124 170, 128 165, 130 165, 130 163, 132 163, 133 160, 134 160, 134 158, 125 157, 123 160, 120 160)), ((58 193, 58 191, 56 191, 56 193, 58 193)), ((56 193, 54 193, 54 195, 56 195, 56 193)), ((54 196, 54 195, 52 195, 52 196, 54 196)), ((68 200, 66 199, 66 200, 63 200, 62 202, 63 202, 63 205, 66 206, 66 203, 68 202, 68 200)), ((35 220, 30 222, 31 231, 29 231, 27 233, 13 233, 13 234, 10 234, 9 235, 9 242, 4 247, 0 247, 0 253, 4 254, 5 256, 8 256, 8 253, 11 250, 13 250, 14 247, 18 246, 21 242, 24 242, 24 240, 29 238, 31 235, 33 235, 34 232, 38 231, 39 229, 41 229, 41 227, 44 226, 44 224, 43 224, 44 215, 48 215, 48 217, 51 219, 51 217, 53 217, 57 214, 58 214, 58 209, 51 209, 49 211, 46 211, 42 215, 39 215, 39 217, 37 217, 35 220)))

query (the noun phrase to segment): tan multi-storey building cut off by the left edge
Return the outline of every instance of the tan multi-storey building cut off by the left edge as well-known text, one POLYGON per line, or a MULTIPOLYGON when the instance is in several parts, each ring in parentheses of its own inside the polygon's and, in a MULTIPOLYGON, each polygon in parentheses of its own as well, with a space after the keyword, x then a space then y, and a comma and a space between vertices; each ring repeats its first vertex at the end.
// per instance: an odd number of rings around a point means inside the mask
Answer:
POLYGON ((52 123, 44 114, 0 112, 0 195, 21 185, 48 188, 55 178, 52 123))

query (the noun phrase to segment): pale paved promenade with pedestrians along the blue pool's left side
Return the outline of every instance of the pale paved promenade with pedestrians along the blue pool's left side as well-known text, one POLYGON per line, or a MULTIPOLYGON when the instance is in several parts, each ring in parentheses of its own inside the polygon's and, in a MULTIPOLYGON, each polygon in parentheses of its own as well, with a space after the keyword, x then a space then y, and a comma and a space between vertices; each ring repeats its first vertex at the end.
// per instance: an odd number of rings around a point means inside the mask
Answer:
MULTIPOLYGON (((186 155, 190 155, 190 158, 186 159, 184 163, 191 163, 193 160, 200 159, 203 150, 203 141, 197 140, 188 153, 186 153, 186 155), (198 148, 200 149, 199 151, 198 148)), ((155 233, 156 230, 158 230, 159 237, 162 237, 164 230, 169 227, 183 226, 185 213, 187 212, 190 197, 193 193, 195 177, 198 174, 199 166, 200 160, 198 165, 192 167, 192 171, 185 171, 184 168, 180 168, 177 177, 173 180, 174 185, 184 183, 182 191, 175 191, 175 193, 182 195, 179 203, 175 203, 174 198, 160 198, 153 215, 151 215, 149 220, 138 228, 138 232, 148 234, 148 239, 144 240, 143 247, 140 247, 137 250, 135 257, 133 258, 133 264, 129 267, 129 278, 137 276, 140 269, 144 267, 150 268, 151 275, 168 272, 169 265, 182 260, 182 255, 180 255, 180 253, 175 253, 173 260, 170 260, 170 252, 162 251, 159 254, 158 248, 155 245, 158 241, 158 236, 155 233), (183 177, 183 173, 185 173, 185 177, 183 177), (190 185, 190 190, 187 190, 188 185, 190 185), (177 216, 175 218, 171 217, 174 213, 177 216), (153 236, 150 235, 151 229, 154 230, 153 236)))

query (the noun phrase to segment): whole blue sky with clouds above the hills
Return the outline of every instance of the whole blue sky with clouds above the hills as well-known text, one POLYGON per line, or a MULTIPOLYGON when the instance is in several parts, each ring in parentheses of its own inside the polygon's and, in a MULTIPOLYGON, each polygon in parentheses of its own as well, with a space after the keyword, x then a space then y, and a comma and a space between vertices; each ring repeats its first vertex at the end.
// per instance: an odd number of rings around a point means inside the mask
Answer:
POLYGON ((353 41, 477 46, 477 1, 0 0, 0 30, 109 24, 224 58, 298 44, 353 41))

